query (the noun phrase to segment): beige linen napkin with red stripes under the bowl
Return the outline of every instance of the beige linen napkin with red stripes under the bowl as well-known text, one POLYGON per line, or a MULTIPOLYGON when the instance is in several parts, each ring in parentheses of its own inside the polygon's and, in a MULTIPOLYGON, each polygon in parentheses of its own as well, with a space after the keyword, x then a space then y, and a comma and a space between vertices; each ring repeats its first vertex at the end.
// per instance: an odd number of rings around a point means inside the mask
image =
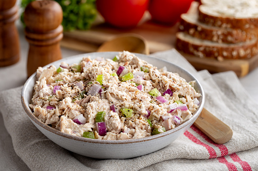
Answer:
POLYGON ((152 54, 185 68, 201 82, 205 108, 229 125, 232 139, 215 144, 195 126, 167 147, 131 159, 95 159, 56 145, 29 121, 21 87, 0 93, 0 111, 17 155, 31 170, 258 170, 258 106, 233 72, 197 72, 176 50, 152 54))

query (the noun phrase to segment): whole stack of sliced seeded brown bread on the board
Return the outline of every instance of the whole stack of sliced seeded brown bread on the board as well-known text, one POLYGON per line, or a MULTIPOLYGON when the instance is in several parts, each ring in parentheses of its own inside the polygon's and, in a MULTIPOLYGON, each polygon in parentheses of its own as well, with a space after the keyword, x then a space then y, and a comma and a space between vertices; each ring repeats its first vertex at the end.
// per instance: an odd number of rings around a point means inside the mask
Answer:
POLYGON ((219 61, 258 53, 258 0, 201 0, 195 9, 181 15, 178 50, 219 61))

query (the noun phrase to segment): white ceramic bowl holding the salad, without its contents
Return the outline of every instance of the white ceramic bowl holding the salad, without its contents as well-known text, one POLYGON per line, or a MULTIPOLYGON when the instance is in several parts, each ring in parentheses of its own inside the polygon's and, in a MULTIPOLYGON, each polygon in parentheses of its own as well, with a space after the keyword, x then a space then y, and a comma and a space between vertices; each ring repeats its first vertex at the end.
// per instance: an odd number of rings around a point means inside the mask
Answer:
MULTIPOLYGON (((62 59, 51 63, 50 65, 55 65, 59 67, 61 62, 66 62, 67 64, 79 63, 84 56, 91 56, 91 59, 96 58, 97 56, 101 56, 103 58, 113 59, 118 52, 93 52, 93 53, 85 53, 76 56, 71 56, 70 58, 62 59)), ((178 73, 182 78, 185 78, 187 81, 196 80, 196 78, 191 75, 186 70, 169 63, 167 61, 163 61, 157 58, 154 58, 149 55, 144 54, 136 54, 140 59, 158 67, 162 68, 164 66, 167 67, 168 71, 178 73)), ((33 95, 33 86, 36 81, 35 73, 29 77, 26 83, 23 86, 21 93, 21 101, 24 107, 24 110, 27 113, 27 116, 31 120, 31 122, 38 128, 44 135, 46 135, 50 140, 60 145, 61 147, 84 155, 88 157, 94 158, 132 158, 141 156, 144 154, 149 154, 154 151, 157 151, 161 148, 172 143, 175 139, 181 136, 185 131, 187 131, 191 125, 195 122, 195 120, 200 115, 200 112, 204 105, 204 92, 202 86, 196 80, 195 89, 202 94, 199 98, 200 104, 197 111, 194 113, 193 117, 187 122, 181 124, 180 126, 166 131, 161 134, 153 135, 150 137, 139 138, 139 139, 128 139, 128 140, 98 140, 98 139, 89 139, 83 138, 79 136, 73 136, 66 133, 62 133, 58 130, 55 130, 40 120, 38 120, 33 114, 31 108, 29 108, 29 103, 31 101, 33 95)))

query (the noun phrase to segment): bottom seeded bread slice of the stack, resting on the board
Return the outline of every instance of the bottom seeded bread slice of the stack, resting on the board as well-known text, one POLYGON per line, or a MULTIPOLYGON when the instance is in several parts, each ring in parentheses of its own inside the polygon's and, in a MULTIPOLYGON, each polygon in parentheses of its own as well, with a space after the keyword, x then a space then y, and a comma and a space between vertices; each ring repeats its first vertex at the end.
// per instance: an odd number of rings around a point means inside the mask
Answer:
POLYGON ((251 58, 258 53, 257 38, 249 42, 226 44, 199 39, 185 32, 176 33, 176 48, 200 58, 212 57, 218 60, 251 58))

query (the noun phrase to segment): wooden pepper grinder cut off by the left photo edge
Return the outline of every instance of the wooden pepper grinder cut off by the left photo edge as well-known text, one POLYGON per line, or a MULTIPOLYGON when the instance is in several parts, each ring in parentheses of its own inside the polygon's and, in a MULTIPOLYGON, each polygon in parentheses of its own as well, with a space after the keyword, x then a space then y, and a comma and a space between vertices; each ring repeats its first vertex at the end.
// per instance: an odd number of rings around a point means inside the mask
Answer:
POLYGON ((0 1, 0 67, 15 64, 20 59, 19 34, 15 26, 18 18, 16 0, 0 1))

